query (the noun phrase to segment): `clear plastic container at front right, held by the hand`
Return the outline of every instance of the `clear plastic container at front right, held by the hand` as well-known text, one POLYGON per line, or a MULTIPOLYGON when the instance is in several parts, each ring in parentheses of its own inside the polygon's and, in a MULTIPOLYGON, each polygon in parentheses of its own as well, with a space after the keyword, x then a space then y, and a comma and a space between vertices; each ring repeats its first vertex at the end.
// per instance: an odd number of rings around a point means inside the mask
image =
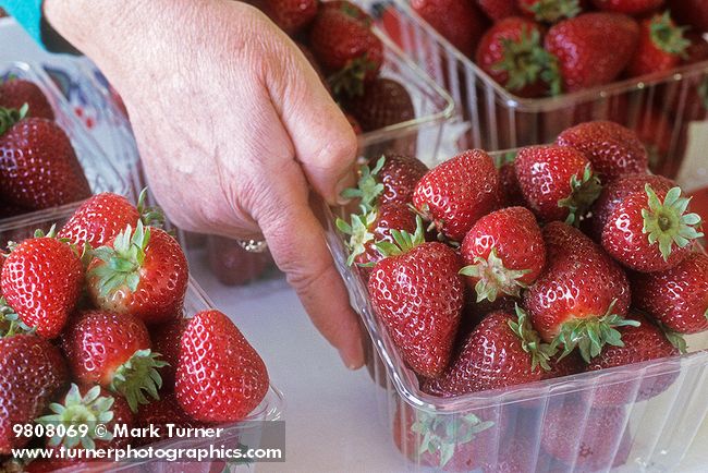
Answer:
POLYGON ((344 210, 320 205, 330 251, 367 332, 381 424, 406 471, 672 471, 686 454, 708 414, 708 332, 687 336, 688 353, 680 356, 454 398, 430 396, 376 316, 362 275, 346 265, 345 241, 334 226, 344 210), (422 449, 427 452, 419 454, 422 449))

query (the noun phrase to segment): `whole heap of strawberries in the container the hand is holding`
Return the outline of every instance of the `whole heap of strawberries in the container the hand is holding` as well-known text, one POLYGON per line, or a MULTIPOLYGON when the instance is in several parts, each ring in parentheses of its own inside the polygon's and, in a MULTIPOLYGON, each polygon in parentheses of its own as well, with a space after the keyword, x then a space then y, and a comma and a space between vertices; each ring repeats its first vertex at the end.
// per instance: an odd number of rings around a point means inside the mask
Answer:
POLYGON ((512 158, 389 156, 345 194, 350 264, 424 391, 670 356, 708 329, 701 219, 632 131, 583 123, 512 158))

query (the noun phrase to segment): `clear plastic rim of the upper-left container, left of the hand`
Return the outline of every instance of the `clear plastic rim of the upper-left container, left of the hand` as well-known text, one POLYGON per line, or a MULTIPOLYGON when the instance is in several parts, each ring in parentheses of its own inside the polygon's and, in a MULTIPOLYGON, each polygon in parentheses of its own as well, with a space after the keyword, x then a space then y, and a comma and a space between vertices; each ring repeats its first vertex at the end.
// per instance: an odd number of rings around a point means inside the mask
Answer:
MULTIPOLYGON (((129 184, 121 171, 121 165, 107 155, 94 137, 87 133, 85 126, 75 117, 71 105, 40 65, 23 62, 0 63, 0 80, 8 77, 34 82, 42 90, 54 110, 57 124, 64 130, 71 140, 93 193, 127 193, 129 184)), ((72 203, 59 208, 73 208, 75 205, 75 203, 72 203)), ((30 214, 0 219, 0 222, 21 225, 25 218, 30 218, 33 215, 42 215, 42 213, 44 210, 36 210, 30 214)))

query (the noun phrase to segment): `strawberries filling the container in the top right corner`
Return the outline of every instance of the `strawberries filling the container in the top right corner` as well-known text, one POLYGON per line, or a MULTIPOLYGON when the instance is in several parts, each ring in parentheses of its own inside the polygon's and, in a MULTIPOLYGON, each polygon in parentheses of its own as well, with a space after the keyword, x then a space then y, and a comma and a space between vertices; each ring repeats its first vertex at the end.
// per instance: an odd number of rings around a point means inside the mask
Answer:
POLYGON ((559 95, 708 59, 699 0, 412 0, 413 9, 521 97, 559 95), (672 14, 681 24, 679 27, 672 14), (688 31, 691 28, 691 31, 688 31))

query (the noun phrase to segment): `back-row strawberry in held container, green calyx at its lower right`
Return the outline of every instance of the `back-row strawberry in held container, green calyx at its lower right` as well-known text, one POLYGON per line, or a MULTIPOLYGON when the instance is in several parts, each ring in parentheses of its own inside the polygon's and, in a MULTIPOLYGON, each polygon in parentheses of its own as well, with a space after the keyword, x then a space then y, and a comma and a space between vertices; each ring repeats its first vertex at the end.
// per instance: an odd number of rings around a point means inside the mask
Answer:
POLYGON ((577 223, 600 194, 600 182, 584 153, 567 146, 528 146, 516 156, 516 178, 542 220, 577 223))

